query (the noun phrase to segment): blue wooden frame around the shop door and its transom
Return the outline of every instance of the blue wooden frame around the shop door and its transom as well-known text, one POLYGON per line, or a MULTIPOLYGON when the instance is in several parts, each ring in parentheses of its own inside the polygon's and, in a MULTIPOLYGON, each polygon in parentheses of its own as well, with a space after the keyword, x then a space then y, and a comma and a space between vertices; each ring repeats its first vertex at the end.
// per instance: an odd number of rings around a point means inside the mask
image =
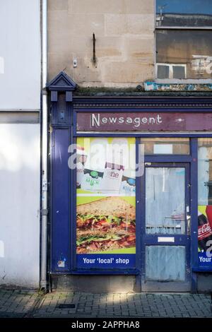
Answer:
MULTIPOLYGON (((170 137, 177 137, 175 134, 170 134, 170 137)), ((167 137, 164 134, 154 135, 154 137, 167 137)), ((187 135, 186 137, 190 137, 187 135)), ((139 162, 139 144, 142 143, 142 138, 146 138, 146 135, 140 136, 140 138, 136 138, 136 164, 139 162)), ((198 265, 198 239, 197 239, 197 230, 198 230, 198 138, 197 136, 194 138, 190 137, 190 154, 189 155, 145 155, 144 162, 153 162, 162 165, 164 163, 175 162, 177 164, 186 163, 189 165, 189 176, 190 176, 190 215, 191 215, 191 237, 190 237, 190 268, 191 268, 191 291, 196 292, 196 273, 194 271, 200 271, 198 265)), ((137 283, 140 283, 141 287, 141 279, 145 278, 145 260, 143 259, 145 256, 145 247, 142 245, 143 243, 143 234, 146 232, 145 225, 145 210, 142 208, 143 201, 145 201, 145 191, 142 187, 145 184, 144 177, 136 177, 136 225, 141 229, 141 232, 137 235, 136 239, 138 239, 136 252, 141 253, 137 254, 137 262, 140 266, 140 273, 137 277, 137 283), (143 182, 143 183, 142 183, 143 182), (141 215, 139 218, 138 216, 141 215)), ((188 256, 187 256, 188 259, 188 256)), ((210 268, 208 268, 210 271, 210 268)))

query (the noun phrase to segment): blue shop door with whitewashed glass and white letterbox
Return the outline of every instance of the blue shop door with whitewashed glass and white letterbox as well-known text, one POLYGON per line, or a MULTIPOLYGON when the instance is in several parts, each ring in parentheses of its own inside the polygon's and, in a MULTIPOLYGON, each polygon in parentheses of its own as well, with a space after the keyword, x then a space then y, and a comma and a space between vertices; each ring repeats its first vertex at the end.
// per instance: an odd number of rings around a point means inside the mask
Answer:
POLYGON ((146 163, 142 178, 142 290, 187 292, 191 290, 189 164, 146 163))

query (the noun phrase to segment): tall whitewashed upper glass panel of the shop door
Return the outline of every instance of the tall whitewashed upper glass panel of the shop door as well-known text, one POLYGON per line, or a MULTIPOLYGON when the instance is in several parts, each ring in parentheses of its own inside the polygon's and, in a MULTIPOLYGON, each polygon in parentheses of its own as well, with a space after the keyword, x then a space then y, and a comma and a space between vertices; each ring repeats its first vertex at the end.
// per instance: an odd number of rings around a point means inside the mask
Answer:
POLYGON ((185 233, 184 167, 146 167, 146 233, 185 233))

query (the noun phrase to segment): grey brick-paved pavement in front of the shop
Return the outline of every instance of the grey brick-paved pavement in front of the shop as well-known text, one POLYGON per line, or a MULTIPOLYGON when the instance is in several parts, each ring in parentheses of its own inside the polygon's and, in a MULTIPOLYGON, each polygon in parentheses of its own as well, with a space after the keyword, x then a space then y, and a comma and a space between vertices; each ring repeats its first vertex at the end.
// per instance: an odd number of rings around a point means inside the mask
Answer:
POLYGON ((90 294, 0 290, 0 318, 212 318, 211 296, 188 293, 90 294))

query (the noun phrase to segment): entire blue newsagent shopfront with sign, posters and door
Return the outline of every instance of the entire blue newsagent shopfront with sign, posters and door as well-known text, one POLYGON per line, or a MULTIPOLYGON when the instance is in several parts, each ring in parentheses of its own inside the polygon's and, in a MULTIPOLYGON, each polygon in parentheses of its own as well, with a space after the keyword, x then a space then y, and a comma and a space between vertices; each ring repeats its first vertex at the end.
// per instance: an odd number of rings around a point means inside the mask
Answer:
POLYGON ((212 272, 212 100, 74 89, 64 73, 49 83, 52 280, 201 290, 212 272))

